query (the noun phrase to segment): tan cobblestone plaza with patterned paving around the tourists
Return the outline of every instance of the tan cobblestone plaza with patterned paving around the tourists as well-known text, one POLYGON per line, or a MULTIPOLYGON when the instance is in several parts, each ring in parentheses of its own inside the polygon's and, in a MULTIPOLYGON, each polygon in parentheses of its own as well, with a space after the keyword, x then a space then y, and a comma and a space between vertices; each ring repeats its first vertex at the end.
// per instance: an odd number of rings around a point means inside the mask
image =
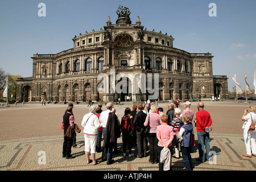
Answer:
MULTIPOLYGON (((167 105, 161 103, 164 113, 167 105)), ((191 109, 196 113, 196 102, 191 109)), ((254 105, 254 104, 251 104, 254 105)), ((243 130, 241 117, 243 110, 249 104, 236 104, 232 101, 205 102, 205 110, 209 111, 213 120, 213 131, 210 133, 210 150, 216 152, 213 164, 199 163, 197 150, 197 134, 194 127, 196 147, 193 148, 192 159, 195 165, 194 171, 226 171, 241 170, 255 171, 256 157, 245 158, 245 143, 243 142, 243 130)), ((119 119, 126 107, 132 107, 131 102, 122 102, 122 105, 114 105, 119 119)), ((145 158, 129 158, 123 156, 122 138, 118 138, 118 154, 113 155, 114 163, 107 165, 101 162, 96 166, 86 164, 84 154, 84 134, 77 134, 77 144, 80 148, 72 148, 75 159, 62 158, 63 130, 61 130, 61 117, 67 105, 60 104, 25 104, 0 107, 0 170, 1 171, 27 171, 27 170, 108 170, 108 171, 158 171, 158 164, 150 164, 149 151, 145 158), (42 163, 40 157, 44 154, 46 161, 42 163)), ((103 110, 106 106, 102 107, 103 110)), ((181 110, 183 110, 181 103, 181 110)), ((84 114, 88 113, 87 105, 75 105, 73 113, 75 123, 81 127, 84 114)), ((195 119, 195 116, 194 116, 195 119)), ((133 152, 137 154, 136 147, 133 152)), ((96 159, 101 161, 101 153, 96 153, 96 159)), ((172 158, 172 169, 181 171, 184 169, 183 159, 172 158)))

